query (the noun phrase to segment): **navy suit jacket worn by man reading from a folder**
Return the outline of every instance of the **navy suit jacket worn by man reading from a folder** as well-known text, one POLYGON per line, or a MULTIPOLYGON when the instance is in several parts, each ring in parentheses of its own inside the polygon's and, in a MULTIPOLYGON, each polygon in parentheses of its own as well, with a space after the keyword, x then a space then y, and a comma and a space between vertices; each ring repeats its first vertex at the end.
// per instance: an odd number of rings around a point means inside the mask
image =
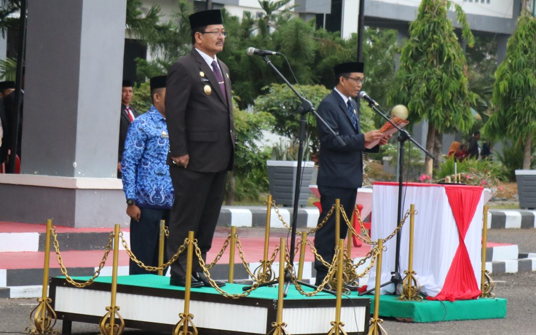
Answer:
MULTIPOLYGON (((352 100, 355 110, 359 110, 352 100)), ((364 135, 354 129, 347 111, 348 107, 336 91, 326 96, 318 106, 318 115, 344 141, 339 143, 326 126, 317 121, 320 139, 320 161, 318 166, 317 184, 328 187, 356 189, 363 183, 363 152, 377 152, 378 147, 365 149, 364 135)), ((359 115, 358 115, 359 120, 359 115)), ((358 123, 359 124, 359 123, 358 123)))

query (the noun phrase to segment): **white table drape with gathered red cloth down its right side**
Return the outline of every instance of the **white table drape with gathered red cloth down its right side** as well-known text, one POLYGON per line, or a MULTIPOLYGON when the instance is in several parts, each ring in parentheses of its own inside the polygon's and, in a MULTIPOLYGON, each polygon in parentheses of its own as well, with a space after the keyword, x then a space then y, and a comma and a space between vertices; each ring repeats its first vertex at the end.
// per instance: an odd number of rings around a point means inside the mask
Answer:
MULTIPOLYGON (((403 214, 415 205, 413 270, 429 299, 466 300, 480 294, 483 188, 405 183, 403 214)), ((372 239, 387 237, 397 225, 398 183, 374 183, 372 239)), ((409 218, 401 230, 400 274, 408 264, 409 218)), ((396 238, 386 242, 381 282, 394 271, 396 238)), ((371 270, 368 286, 375 284, 371 270)), ((385 286, 381 293, 393 292, 385 286)))

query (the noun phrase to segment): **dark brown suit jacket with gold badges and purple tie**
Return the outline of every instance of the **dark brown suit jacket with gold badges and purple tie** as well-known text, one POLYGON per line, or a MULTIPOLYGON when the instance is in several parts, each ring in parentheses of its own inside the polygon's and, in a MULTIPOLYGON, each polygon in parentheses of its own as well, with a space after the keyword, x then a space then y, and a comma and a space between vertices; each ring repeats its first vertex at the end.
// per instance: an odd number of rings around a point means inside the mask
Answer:
POLYGON ((175 62, 166 82, 166 122, 170 157, 188 154, 188 169, 220 172, 233 168, 235 129, 229 69, 219 61, 226 95, 199 53, 175 62))

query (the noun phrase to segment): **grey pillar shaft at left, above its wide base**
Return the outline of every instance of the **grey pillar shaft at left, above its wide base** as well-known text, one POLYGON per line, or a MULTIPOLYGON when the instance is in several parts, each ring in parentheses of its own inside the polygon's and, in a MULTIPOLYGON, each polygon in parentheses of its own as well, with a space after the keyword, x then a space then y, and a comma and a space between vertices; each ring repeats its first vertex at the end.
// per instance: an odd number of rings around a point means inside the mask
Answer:
POLYGON ((125 4, 28 3, 21 173, 115 177, 125 4))

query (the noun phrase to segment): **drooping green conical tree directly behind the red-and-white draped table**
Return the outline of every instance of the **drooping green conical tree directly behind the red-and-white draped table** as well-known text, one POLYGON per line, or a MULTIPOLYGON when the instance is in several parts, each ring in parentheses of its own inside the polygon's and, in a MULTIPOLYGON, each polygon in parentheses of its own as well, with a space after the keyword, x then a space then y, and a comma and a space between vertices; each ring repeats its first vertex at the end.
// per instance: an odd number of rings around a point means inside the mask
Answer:
MULTIPOLYGON (((423 0, 410 38, 402 48, 400 68, 391 91, 391 105, 399 103, 410 110, 412 123, 428 120, 426 148, 434 152, 436 136, 443 132, 467 132, 473 118, 474 94, 468 89, 467 65, 447 12, 446 0, 423 0)), ((462 36, 469 46, 474 43, 465 13, 455 5, 462 36)), ((441 150, 441 148, 438 148, 441 150)), ((436 148, 437 150, 437 148, 436 148)), ((436 159, 440 153, 434 152, 436 159)), ((431 175, 432 161, 426 157, 425 173, 431 175)))

